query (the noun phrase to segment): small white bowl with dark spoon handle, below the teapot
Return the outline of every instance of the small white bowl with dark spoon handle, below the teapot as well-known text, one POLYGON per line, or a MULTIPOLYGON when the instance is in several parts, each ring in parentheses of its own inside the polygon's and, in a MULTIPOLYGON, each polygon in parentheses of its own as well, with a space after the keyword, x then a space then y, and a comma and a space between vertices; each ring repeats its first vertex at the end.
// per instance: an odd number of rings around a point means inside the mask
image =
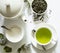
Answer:
POLYGON ((24 29, 21 26, 12 26, 11 30, 5 30, 5 36, 12 43, 19 42, 24 37, 24 29))

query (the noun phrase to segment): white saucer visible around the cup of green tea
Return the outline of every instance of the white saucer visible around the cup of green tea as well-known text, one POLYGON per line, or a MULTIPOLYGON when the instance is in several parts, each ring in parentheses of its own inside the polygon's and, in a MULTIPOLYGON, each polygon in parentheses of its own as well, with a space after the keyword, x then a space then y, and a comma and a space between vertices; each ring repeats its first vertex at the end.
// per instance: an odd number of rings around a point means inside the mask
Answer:
MULTIPOLYGON (((53 33, 54 33, 54 34, 53 34, 53 39, 52 39, 51 43, 48 44, 48 45, 46 45, 46 46, 44 46, 46 50, 51 49, 51 48, 54 47, 54 46, 56 45, 56 43, 57 43, 56 30, 54 29, 54 27, 50 26, 49 24, 47 25, 47 23, 38 24, 38 25, 36 26, 36 28, 37 28, 37 27, 41 27, 41 26, 50 27, 50 28, 52 29, 53 33)), ((36 28, 35 28, 35 30, 36 30, 36 28)), ((44 49, 42 48, 42 46, 41 46, 41 45, 38 45, 33 38, 32 38, 32 44, 33 44, 33 46, 36 47, 37 49, 44 50, 44 49)))

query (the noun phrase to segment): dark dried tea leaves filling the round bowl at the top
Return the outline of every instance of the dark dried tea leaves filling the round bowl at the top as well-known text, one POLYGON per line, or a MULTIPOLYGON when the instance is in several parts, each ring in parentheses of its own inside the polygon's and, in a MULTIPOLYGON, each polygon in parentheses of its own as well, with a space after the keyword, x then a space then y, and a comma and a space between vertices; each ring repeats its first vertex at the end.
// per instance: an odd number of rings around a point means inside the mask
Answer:
POLYGON ((47 9, 47 3, 45 0, 34 0, 32 2, 32 9, 36 13, 43 13, 47 9))

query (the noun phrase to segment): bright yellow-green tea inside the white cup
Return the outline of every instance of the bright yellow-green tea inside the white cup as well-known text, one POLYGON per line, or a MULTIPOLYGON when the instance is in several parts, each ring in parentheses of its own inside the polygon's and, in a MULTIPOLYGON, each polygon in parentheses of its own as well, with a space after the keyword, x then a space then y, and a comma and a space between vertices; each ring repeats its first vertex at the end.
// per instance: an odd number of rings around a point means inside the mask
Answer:
POLYGON ((40 28, 36 32, 36 39, 39 43, 46 44, 51 40, 52 33, 48 28, 40 28))

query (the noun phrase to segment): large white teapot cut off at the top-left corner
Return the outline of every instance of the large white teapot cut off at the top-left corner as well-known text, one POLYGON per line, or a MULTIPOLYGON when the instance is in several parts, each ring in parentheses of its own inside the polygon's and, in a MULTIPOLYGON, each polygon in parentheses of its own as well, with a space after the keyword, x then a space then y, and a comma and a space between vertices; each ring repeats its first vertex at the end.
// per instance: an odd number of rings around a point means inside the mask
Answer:
POLYGON ((16 18, 22 14, 24 0, 1 0, 0 14, 5 18, 16 18))

